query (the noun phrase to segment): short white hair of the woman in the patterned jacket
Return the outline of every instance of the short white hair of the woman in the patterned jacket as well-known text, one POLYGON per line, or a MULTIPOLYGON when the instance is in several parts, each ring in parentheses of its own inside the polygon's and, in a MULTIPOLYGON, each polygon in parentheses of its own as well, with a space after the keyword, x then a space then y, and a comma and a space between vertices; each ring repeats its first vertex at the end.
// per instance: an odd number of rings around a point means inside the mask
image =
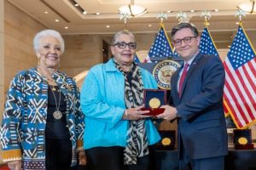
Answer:
POLYGON ((35 53, 38 53, 38 50, 40 48, 40 41, 41 41, 42 37, 55 37, 61 44, 61 54, 63 54, 64 48, 65 48, 65 43, 64 43, 63 38, 61 37, 60 32, 55 31, 55 30, 43 30, 43 31, 39 31, 37 33, 37 35, 34 37, 34 40, 33 40, 33 46, 34 46, 35 53))

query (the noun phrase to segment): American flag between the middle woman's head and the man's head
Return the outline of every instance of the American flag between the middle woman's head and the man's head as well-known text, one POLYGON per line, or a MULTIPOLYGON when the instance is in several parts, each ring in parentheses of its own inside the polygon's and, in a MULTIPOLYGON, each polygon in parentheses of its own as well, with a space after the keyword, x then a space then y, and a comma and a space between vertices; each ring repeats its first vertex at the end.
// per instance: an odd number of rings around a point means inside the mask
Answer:
POLYGON ((160 25, 160 31, 149 49, 148 56, 144 59, 144 62, 150 62, 150 59, 154 57, 172 57, 172 45, 163 24, 160 25))

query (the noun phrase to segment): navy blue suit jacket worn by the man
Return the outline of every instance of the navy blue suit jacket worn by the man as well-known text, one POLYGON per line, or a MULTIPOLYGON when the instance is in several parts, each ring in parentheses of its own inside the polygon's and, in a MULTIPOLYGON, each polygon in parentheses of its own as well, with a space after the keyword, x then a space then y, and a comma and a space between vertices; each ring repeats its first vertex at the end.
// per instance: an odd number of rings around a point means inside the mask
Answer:
POLYGON ((228 153, 223 109, 224 66, 214 55, 197 54, 177 94, 178 69, 171 80, 171 105, 177 108, 178 153, 180 138, 191 159, 228 153))

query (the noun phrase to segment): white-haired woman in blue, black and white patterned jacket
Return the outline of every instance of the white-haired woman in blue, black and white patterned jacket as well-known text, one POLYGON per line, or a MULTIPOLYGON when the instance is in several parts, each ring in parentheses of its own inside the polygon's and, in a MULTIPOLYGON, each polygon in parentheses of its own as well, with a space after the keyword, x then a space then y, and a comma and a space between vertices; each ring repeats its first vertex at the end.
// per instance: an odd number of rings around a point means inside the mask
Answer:
POLYGON ((38 66, 12 80, 0 128, 3 161, 11 169, 71 169, 86 163, 84 115, 71 77, 58 70, 64 41, 59 32, 38 32, 38 66))

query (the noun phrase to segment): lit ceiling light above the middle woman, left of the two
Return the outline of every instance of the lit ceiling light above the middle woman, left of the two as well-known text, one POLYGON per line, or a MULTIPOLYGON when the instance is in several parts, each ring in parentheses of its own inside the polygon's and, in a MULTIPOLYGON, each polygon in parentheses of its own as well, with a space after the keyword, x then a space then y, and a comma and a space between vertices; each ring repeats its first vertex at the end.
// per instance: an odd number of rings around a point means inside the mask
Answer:
POLYGON ((129 5, 124 5, 119 8, 120 14, 129 14, 132 17, 137 17, 147 12, 147 8, 134 4, 134 0, 131 0, 129 5))

